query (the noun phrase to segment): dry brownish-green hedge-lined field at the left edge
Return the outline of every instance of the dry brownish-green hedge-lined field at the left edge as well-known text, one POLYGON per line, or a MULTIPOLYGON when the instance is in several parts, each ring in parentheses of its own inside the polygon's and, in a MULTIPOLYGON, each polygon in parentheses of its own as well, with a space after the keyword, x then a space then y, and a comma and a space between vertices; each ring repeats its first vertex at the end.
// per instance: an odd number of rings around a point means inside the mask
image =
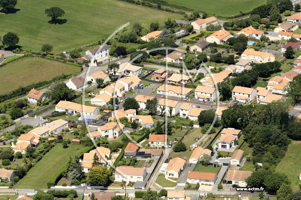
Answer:
POLYGON ((30 85, 54 76, 79 73, 80 68, 72 64, 65 64, 46 58, 22 58, 0 67, 0 94, 12 91, 23 85, 30 85))

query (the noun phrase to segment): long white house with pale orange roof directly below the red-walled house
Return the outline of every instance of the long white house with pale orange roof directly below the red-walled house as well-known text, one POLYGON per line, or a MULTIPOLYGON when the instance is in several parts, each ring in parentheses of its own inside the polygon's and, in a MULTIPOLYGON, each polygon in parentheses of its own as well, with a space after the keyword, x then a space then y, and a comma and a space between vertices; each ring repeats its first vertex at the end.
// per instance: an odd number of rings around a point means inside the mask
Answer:
MULTIPOLYGON (((174 79, 174 80, 177 81, 178 79, 174 79)), ((174 85, 165 85, 165 84, 161 85, 156 90, 157 90, 157 94, 178 97, 178 98, 188 97, 193 92, 191 88, 183 88, 183 87, 178 87, 174 85)))

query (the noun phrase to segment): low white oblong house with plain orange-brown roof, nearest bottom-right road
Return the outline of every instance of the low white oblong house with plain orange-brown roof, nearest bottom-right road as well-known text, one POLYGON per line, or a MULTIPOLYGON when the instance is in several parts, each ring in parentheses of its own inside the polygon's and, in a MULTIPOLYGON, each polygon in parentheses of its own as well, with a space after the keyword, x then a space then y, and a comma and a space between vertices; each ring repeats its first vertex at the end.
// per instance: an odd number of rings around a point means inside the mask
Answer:
POLYGON ((187 175, 187 182, 191 184, 211 184, 214 185, 217 179, 216 173, 210 172, 189 172, 187 175))

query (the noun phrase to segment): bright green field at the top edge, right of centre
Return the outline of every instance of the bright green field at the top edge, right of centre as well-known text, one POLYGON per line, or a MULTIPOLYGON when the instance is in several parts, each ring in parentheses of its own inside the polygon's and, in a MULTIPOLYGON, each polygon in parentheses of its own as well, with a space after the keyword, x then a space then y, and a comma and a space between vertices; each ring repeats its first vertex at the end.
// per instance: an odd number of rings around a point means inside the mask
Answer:
POLYGON ((215 13, 216 16, 232 16, 239 14, 240 11, 247 12, 251 11, 253 8, 260 6, 266 2, 266 0, 226 0, 226 1, 216 1, 214 4, 210 0, 166 0, 168 3, 177 4, 185 6, 192 9, 197 9, 201 11, 206 11, 208 13, 215 13))

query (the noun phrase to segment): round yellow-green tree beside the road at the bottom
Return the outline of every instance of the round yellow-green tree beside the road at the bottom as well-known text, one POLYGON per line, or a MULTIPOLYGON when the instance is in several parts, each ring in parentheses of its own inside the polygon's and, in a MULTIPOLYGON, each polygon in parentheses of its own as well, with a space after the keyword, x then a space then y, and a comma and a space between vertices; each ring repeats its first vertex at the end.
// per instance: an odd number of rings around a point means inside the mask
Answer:
POLYGON ((89 171, 89 182, 93 186, 106 185, 109 181, 109 171, 105 166, 94 166, 89 171))

